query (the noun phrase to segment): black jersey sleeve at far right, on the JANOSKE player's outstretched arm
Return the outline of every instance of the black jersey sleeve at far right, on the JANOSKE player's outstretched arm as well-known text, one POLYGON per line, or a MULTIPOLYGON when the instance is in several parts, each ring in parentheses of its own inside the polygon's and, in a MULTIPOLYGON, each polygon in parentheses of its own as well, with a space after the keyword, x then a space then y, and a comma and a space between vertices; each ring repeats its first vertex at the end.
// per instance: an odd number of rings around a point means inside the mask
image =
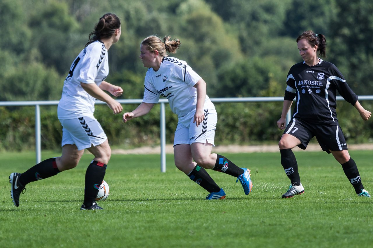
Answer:
POLYGON ((342 73, 332 65, 331 67, 331 75, 330 78, 327 79, 328 83, 333 83, 338 91, 338 93, 345 99, 346 102, 349 102, 353 105, 358 100, 358 96, 351 90, 350 86, 346 83, 345 78, 343 77, 342 73))

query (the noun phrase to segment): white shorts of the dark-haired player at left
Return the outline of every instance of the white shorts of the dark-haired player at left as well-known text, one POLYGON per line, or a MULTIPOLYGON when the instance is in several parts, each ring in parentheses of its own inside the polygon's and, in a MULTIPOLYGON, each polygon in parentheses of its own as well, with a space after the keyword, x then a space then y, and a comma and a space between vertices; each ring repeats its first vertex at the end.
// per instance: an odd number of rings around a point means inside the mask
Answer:
POLYGON ((97 146, 107 140, 100 123, 90 116, 60 120, 62 125, 62 146, 76 145, 78 150, 97 146))

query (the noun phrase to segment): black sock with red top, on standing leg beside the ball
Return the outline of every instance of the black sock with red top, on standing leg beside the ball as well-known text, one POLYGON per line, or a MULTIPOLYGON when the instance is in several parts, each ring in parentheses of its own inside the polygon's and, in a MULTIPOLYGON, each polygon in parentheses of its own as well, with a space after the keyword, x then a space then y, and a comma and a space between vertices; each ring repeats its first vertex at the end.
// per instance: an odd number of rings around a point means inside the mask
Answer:
POLYGON ((85 188, 84 188, 84 206, 90 207, 94 200, 96 200, 98 189, 104 180, 107 165, 92 161, 85 172, 85 188))

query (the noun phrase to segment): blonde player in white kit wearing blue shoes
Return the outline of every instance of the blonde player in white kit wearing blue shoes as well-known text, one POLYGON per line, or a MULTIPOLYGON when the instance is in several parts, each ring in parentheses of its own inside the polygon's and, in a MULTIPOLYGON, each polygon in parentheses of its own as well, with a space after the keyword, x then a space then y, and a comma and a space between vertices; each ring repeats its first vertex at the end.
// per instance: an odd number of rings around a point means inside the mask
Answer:
POLYGON ((206 95, 205 81, 185 61, 167 57, 179 49, 178 39, 149 36, 141 42, 140 59, 149 68, 145 75, 144 99, 132 112, 123 114, 123 122, 146 115, 159 97, 166 97, 172 112, 178 115, 173 151, 176 167, 209 191, 206 199, 225 199, 225 192, 206 172, 213 169, 237 177, 248 195, 253 184, 250 170, 239 168, 219 154, 211 154, 214 146, 217 113, 206 95), (194 161, 193 161, 194 160, 194 161))

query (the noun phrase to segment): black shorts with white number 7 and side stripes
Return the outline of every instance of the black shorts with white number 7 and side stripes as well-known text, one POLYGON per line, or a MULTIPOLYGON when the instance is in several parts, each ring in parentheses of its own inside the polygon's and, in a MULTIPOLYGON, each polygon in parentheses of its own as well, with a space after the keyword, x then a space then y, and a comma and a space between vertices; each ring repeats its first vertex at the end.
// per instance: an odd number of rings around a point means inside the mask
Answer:
POLYGON ((301 144, 298 147, 303 150, 314 136, 323 151, 327 153, 347 150, 346 139, 340 126, 317 125, 293 118, 283 133, 299 139, 301 144))

